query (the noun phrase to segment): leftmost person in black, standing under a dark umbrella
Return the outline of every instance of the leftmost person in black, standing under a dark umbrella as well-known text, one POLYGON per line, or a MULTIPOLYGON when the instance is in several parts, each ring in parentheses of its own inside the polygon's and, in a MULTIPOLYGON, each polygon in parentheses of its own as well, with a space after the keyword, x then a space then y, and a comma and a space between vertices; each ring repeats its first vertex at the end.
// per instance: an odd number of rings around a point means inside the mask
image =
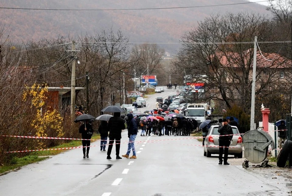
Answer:
POLYGON ((85 123, 79 127, 79 133, 81 134, 82 139, 86 139, 82 140, 83 159, 85 159, 85 152, 86 157, 89 158, 90 139, 93 134, 93 129, 91 124, 89 124, 89 120, 85 120, 85 123))

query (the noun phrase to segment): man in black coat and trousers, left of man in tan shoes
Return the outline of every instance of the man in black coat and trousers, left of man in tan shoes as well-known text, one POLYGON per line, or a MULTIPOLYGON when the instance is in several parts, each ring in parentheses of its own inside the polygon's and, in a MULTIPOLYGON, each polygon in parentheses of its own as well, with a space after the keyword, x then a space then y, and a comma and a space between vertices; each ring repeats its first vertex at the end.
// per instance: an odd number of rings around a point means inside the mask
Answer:
POLYGON ((113 117, 109 119, 109 148, 106 159, 112 159, 110 157, 110 153, 112 152, 114 141, 116 141, 116 159, 122 159, 122 157, 120 157, 120 143, 122 138, 122 130, 125 129, 125 121, 120 117, 120 115, 120 112, 114 112, 113 117))

